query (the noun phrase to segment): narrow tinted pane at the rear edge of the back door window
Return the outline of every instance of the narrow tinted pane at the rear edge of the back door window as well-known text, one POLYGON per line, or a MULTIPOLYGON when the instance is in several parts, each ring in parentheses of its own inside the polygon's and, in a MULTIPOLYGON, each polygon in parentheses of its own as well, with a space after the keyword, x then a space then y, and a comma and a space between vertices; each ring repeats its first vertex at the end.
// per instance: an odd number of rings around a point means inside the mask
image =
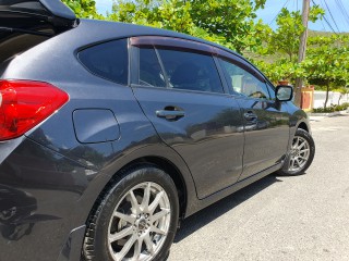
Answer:
POLYGON ((166 87, 165 76, 154 48, 140 49, 140 85, 166 87))

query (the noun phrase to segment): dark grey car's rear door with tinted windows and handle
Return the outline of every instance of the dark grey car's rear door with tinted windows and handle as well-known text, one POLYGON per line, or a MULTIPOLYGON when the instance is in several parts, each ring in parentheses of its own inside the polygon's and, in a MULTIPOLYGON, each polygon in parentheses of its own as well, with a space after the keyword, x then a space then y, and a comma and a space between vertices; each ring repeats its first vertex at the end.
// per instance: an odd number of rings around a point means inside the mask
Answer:
POLYGON ((205 198, 242 171, 243 122, 226 94, 212 47, 169 37, 135 37, 132 88, 168 146, 186 162, 205 198))

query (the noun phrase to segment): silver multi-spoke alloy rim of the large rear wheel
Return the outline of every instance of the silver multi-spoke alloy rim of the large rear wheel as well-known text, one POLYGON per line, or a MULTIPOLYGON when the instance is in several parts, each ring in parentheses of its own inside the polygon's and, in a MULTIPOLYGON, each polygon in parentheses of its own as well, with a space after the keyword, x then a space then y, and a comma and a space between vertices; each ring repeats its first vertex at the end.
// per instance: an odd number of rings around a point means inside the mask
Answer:
POLYGON ((108 228, 108 248, 115 261, 148 261, 161 249, 171 222, 165 189, 147 182, 134 186, 118 202, 108 228))

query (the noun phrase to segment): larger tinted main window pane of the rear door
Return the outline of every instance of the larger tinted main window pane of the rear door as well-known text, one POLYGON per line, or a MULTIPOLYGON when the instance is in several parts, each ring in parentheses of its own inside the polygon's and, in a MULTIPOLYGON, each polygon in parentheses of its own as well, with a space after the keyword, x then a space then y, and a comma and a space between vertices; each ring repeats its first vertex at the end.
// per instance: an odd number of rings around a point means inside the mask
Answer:
POLYGON ((212 55, 182 50, 158 49, 169 88, 224 92, 212 55))

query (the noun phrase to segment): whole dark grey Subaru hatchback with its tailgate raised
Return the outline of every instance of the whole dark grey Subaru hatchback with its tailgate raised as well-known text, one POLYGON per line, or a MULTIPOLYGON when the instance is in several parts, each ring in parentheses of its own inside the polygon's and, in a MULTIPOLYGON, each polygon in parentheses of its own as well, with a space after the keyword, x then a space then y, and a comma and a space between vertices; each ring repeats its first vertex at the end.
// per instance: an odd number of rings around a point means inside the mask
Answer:
POLYGON ((292 88, 202 39, 0 1, 0 260, 165 260, 182 219, 315 146, 292 88))

